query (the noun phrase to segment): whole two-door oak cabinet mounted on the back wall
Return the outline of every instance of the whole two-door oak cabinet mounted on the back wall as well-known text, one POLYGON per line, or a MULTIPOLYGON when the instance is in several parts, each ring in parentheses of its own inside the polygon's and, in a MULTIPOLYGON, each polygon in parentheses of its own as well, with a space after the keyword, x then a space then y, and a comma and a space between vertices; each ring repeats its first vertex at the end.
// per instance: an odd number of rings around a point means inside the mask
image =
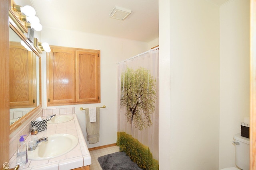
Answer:
POLYGON ((100 103, 100 51, 51 46, 47 106, 100 103))

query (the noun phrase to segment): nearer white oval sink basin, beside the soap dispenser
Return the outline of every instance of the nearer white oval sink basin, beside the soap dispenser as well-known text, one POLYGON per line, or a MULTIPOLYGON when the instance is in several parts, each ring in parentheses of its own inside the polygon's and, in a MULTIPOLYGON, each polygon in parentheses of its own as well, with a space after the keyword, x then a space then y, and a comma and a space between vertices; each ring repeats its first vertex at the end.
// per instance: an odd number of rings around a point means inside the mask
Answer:
POLYGON ((48 141, 38 144, 35 150, 28 151, 28 159, 45 160, 68 153, 78 144, 78 138, 69 134, 48 136, 48 141))

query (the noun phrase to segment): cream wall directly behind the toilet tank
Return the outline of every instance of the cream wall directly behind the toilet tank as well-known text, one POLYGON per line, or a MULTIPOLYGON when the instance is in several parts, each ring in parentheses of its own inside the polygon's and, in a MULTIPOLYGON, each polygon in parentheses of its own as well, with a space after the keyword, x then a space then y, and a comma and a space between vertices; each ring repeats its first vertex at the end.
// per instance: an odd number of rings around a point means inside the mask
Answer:
POLYGON ((249 117, 250 0, 220 7, 220 169, 235 166, 233 135, 249 117))

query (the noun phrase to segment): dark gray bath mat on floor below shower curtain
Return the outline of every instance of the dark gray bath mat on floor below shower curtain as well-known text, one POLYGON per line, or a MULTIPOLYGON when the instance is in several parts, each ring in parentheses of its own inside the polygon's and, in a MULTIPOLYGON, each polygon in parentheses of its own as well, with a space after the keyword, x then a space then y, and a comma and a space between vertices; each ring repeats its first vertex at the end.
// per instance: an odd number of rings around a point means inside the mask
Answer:
POLYGON ((98 157, 102 170, 142 170, 125 152, 115 152, 98 157))

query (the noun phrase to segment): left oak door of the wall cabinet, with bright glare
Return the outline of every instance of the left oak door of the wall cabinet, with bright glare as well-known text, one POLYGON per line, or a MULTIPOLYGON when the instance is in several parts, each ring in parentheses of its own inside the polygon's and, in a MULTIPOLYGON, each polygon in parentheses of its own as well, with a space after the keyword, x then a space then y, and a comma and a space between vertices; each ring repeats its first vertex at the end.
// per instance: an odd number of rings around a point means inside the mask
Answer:
POLYGON ((49 73, 47 106, 74 102, 74 50, 52 49, 49 56, 47 58, 49 73))

